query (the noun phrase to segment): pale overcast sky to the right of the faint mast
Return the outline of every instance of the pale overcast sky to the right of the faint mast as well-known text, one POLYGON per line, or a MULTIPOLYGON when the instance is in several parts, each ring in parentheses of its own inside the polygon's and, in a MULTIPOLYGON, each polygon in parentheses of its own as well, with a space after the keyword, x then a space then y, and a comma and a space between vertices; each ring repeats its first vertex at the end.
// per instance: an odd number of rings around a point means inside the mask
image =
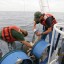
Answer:
POLYGON ((64 0, 49 0, 50 11, 64 12, 64 0))

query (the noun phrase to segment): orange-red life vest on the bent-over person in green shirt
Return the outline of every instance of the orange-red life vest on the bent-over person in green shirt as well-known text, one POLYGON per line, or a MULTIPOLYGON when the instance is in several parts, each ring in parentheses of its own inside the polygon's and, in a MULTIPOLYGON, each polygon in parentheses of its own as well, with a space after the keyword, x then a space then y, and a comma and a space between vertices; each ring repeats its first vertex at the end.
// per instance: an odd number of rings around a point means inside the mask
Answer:
POLYGON ((2 29, 2 38, 3 38, 4 41, 7 41, 7 42, 14 42, 14 41, 16 41, 16 39, 13 38, 13 36, 11 34, 11 29, 19 31, 19 28, 16 27, 16 26, 4 27, 2 29))

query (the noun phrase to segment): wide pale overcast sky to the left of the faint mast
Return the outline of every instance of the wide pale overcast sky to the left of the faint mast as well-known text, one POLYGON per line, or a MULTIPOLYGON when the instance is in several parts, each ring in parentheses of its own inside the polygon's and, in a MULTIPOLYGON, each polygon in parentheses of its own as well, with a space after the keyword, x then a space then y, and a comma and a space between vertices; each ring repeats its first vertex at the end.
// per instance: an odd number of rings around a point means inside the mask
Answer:
POLYGON ((39 0, 0 0, 0 11, 40 10, 39 0))

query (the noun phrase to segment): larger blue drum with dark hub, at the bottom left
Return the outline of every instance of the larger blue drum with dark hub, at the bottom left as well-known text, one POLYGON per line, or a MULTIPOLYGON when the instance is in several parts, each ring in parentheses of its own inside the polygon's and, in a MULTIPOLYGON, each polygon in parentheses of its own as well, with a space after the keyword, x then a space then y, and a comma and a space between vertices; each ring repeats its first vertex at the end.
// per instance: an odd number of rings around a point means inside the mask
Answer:
POLYGON ((0 64, 32 64, 32 60, 23 51, 16 50, 7 53, 1 59, 0 64), (19 60, 21 63, 18 63, 19 60))

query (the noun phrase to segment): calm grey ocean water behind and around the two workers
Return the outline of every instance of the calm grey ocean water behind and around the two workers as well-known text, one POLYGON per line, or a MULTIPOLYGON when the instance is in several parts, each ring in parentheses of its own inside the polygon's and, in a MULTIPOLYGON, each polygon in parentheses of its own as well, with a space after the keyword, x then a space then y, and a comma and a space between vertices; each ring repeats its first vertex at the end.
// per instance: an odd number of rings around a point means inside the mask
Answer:
MULTIPOLYGON (((57 22, 64 22, 64 13, 51 12, 57 22)), ((25 38, 27 41, 32 41, 33 38, 33 18, 34 12, 21 12, 21 11, 0 11, 0 30, 2 27, 9 25, 21 26, 22 29, 28 31, 28 36, 25 38)), ((37 29, 42 31, 42 25, 37 25, 37 29)), ((19 46, 19 44, 18 44, 19 46)), ((0 40, 0 49, 2 49, 3 54, 8 52, 8 47, 6 43, 0 40)))

